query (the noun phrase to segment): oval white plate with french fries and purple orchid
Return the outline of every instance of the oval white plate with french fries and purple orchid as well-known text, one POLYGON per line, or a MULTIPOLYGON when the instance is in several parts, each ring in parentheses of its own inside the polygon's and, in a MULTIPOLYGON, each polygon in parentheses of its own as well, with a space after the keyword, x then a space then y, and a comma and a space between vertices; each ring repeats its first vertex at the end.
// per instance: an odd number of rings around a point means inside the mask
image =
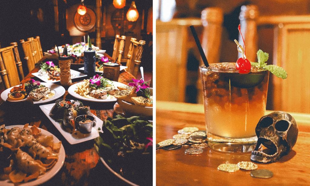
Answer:
POLYGON ((93 78, 84 79, 68 88, 68 92, 73 97, 92 102, 113 102, 117 87, 126 86, 123 83, 110 81, 96 74, 93 78))

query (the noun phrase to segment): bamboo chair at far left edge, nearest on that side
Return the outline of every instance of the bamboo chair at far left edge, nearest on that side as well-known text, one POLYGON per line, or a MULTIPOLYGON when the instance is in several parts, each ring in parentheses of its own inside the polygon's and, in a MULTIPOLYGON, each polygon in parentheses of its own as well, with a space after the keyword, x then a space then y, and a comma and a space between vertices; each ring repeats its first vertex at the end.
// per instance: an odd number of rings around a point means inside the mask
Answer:
POLYGON ((1 48, 0 53, 0 73, 5 87, 10 88, 19 85, 19 73, 21 78, 24 79, 24 72, 17 50, 17 43, 12 42, 10 47, 1 48), (19 73, 16 66, 18 67, 19 73))

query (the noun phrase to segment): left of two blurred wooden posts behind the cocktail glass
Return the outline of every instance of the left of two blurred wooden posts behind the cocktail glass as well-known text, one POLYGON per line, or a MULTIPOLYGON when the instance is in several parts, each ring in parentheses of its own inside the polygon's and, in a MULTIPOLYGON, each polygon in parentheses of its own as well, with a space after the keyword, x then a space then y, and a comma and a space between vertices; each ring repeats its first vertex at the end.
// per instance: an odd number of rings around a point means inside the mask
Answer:
POLYGON ((203 25, 201 46, 209 63, 219 62, 223 20, 223 11, 220 8, 210 7, 201 12, 203 25))

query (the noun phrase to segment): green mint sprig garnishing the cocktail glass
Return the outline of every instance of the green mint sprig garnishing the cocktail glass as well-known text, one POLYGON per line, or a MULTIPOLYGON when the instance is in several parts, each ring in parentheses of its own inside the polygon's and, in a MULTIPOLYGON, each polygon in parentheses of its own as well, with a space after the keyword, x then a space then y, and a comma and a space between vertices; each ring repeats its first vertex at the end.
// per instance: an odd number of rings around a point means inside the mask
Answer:
POLYGON ((287 73, 282 67, 279 67, 273 64, 267 65, 266 61, 268 60, 268 58, 269 58, 269 54, 259 49, 257 51, 258 63, 251 62, 251 65, 257 66, 259 68, 267 69, 271 73, 273 73, 275 76, 277 76, 278 78, 286 79, 287 73))

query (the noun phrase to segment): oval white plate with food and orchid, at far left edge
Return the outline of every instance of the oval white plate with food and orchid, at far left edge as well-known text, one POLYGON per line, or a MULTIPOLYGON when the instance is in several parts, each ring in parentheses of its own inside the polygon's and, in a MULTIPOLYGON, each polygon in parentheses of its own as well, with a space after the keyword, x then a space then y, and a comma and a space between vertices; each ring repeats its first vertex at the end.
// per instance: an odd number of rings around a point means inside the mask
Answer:
POLYGON ((30 79, 28 83, 8 88, 1 93, 3 101, 17 102, 32 99, 33 104, 47 103, 64 95, 63 86, 54 83, 42 83, 30 79))

